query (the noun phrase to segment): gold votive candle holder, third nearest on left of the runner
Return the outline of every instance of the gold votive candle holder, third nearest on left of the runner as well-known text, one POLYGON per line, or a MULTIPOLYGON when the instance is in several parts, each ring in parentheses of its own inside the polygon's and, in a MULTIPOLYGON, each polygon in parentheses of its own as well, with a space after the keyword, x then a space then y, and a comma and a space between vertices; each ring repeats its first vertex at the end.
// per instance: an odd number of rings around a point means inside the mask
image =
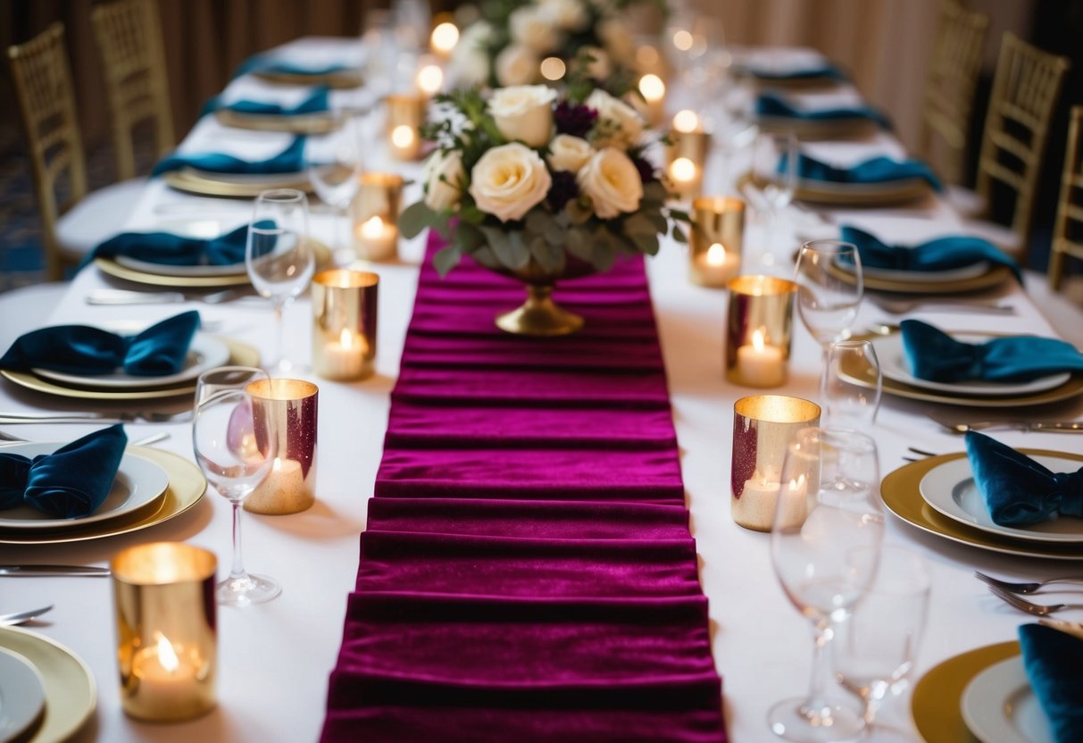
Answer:
POLYGON ((380 277, 334 269, 312 278, 312 366, 324 379, 373 374, 380 277))

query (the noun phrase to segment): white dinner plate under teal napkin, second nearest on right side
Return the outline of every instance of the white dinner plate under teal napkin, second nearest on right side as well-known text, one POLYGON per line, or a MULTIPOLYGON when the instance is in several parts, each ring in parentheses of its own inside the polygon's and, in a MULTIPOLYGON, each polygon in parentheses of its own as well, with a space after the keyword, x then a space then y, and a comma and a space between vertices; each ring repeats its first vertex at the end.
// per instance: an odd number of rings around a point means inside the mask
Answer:
MULTIPOLYGON (((1074 472, 1080 462, 1061 457, 1033 457, 1054 472, 1074 472)), ((1083 519, 1060 516, 1026 526, 1002 526, 993 522, 986 501, 978 492, 966 457, 934 467, 918 484, 922 498, 949 519, 983 532, 1029 542, 1083 543, 1083 519)))

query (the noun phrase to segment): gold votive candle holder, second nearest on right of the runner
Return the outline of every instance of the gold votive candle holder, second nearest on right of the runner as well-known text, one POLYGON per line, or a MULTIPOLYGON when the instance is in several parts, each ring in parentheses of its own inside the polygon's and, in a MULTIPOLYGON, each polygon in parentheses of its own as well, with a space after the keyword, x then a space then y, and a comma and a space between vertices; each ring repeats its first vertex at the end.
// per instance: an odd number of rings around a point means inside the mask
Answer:
POLYGON ((738 276, 726 322, 726 378, 745 387, 780 387, 790 369, 797 285, 775 276, 738 276))

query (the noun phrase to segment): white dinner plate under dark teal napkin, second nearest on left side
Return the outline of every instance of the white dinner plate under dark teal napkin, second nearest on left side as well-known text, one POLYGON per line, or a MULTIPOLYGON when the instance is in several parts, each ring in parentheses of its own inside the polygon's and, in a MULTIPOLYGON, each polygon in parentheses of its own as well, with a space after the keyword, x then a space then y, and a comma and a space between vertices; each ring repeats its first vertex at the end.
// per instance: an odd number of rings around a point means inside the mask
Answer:
MULTIPOLYGON (((0 447, 4 454, 21 454, 34 458, 39 454, 52 454, 63 443, 18 443, 0 447)), ((57 519, 29 506, 9 508, 0 511, 0 529, 79 529, 95 521, 106 521, 131 513, 154 503, 169 487, 169 475, 158 465, 143 457, 125 454, 117 468, 113 490, 102 505, 90 516, 78 519, 57 519)))

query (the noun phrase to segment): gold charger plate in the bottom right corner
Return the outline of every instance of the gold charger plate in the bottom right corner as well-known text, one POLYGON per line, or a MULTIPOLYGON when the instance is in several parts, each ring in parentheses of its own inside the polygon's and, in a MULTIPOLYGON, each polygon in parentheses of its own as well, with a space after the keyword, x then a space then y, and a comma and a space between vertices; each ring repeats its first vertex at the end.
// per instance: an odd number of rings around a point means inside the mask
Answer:
POLYGON ((950 657, 914 686, 910 713, 926 743, 965 743, 976 740, 963 720, 963 692, 986 668, 1019 654, 1017 641, 978 648, 950 657))

